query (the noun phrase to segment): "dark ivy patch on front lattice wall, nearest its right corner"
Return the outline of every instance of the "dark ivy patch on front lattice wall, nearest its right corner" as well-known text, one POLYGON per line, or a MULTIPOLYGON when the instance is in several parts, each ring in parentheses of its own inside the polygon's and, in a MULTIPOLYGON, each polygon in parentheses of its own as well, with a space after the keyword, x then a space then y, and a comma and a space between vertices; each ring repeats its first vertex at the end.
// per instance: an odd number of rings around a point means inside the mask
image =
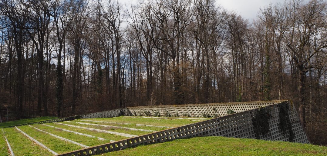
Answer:
POLYGON ((292 123, 289 119, 288 109, 289 106, 287 103, 281 103, 279 107, 279 128, 284 133, 284 135, 289 135, 289 142, 294 141, 294 132, 292 129, 292 123))

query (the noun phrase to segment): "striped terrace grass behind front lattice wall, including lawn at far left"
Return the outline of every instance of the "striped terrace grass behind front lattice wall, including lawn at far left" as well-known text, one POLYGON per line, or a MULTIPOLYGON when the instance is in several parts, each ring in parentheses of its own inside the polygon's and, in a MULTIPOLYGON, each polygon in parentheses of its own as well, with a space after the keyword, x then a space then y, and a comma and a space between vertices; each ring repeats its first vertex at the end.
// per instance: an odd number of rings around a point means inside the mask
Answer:
MULTIPOLYGON (((53 117, 41 117, 41 118, 33 118, 33 119, 23 119, 19 121, 11 121, 7 123, 1 124, 2 127, 11 126, 11 125, 17 125, 17 124, 24 124, 24 123, 31 123, 36 121, 44 121, 44 120, 50 120, 55 119, 53 117)), ((88 120, 88 119, 84 119, 88 120)), ((119 126, 119 127, 128 127, 128 128, 136 128, 136 129, 145 129, 145 130, 153 130, 153 131, 161 131, 166 128, 161 127, 150 127, 150 126, 137 126, 136 124, 145 124, 145 125, 157 125, 157 126, 171 126, 176 127, 180 125, 190 124, 194 122, 198 122, 200 120, 195 119, 152 119, 152 118, 128 118, 128 117, 115 117, 115 118, 100 118, 100 119, 89 119, 93 121, 80 121, 76 120, 76 122, 84 122, 84 123, 93 123, 93 124, 101 124, 101 125, 108 125, 108 126, 119 126), (130 123, 130 124, 119 124, 119 123, 102 123, 98 121, 109 121, 109 122, 120 122, 120 123, 130 123)), ((95 128, 95 129, 101 129, 101 130, 107 130, 112 132, 119 132, 119 133, 125 133, 125 134, 131 134, 131 135, 144 135, 150 132, 144 132, 144 131, 134 131, 129 130, 125 128, 114 128, 114 127, 103 127, 103 126, 94 126, 94 125, 84 125, 79 124, 76 122, 61 122, 65 124, 70 125, 77 125, 81 127, 89 127, 89 128, 95 128)), ((83 135, 77 135, 70 132, 65 132, 56 128, 48 127, 45 125, 40 124, 34 124, 32 126, 39 128, 45 132, 61 136, 66 139, 73 140, 75 142, 78 142, 80 144, 86 145, 86 146, 96 146, 104 143, 110 142, 110 140, 122 140, 126 139, 128 137, 120 136, 120 135, 113 135, 113 134, 107 134, 107 133, 101 133, 101 132, 95 132, 85 129, 79 129, 75 127, 65 126, 65 125, 59 125, 56 123, 47 123, 48 125, 55 126, 58 128, 63 128, 66 130, 71 130, 83 134, 93 135, 101 138, 105 138, 108 140, 98 140, 97 138, 91 138, 83 135)), ((62 141, 58 138, 55 138, 51 135, 48 135, 46 133, 40 132, 33 127, 30 126, 19 126, 19 129, 24 131, 26 134, 30 135, 34 139, 38 140, 42 144, 44 144, 49 149, 57 152, 57 153, 63 153, 67 151, 77 150, 81 149, 80 146, 62 141)), ((49 151, 46 149, 43 149, 39 145, 35 144, 31 140, 29 140, 26 136, 18 132, 15 128, 4 128, 4 131, 6 133, 6 136, 9 140, 10 145, 12 146, 12 149, 14 150, 15 155, 52 155, 49 151)), ((0 141, 0 155, 9 155, 9 151, 7 149, 7 145, 5 142, 5 139, 3 135, 1 135, 3 139, 0 141)))

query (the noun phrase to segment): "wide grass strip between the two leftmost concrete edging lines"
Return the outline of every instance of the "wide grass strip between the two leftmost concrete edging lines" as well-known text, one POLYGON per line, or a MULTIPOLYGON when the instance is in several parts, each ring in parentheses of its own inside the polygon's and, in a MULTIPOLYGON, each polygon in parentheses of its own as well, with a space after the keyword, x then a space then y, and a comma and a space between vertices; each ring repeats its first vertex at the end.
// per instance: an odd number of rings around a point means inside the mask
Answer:
MULTIPOLYGON (((24 156, 52 155, 52 153, 50 153, 48 150, 43 149, 41 146, 29 140, 25 135, 17 131, 16 128, 4 128, 3 130, 9 141, 11 149, 13 150, 15 155, 24 155, 24 156)), ((5 146, 7 145, 5 144, 5 146)), ((2 153, 0 153, 0 155, 2 155, 2 153)))

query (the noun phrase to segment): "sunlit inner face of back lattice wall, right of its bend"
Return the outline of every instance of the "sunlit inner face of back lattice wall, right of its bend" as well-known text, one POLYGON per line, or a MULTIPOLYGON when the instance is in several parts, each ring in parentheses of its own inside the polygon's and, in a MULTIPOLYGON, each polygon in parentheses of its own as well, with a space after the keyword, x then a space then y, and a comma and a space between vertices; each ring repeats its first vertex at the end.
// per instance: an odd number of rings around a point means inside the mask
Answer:
POLYGON ((234 103, 214 103, 214 104, 190 104, 190 105, 165 105, 165 106, 141 106, 128 107, 132 115, 144 116, 144 112, 150 112, 152 116, 154 112, 159 111, 161 116, 168 111, 170 115, 178 113, 179 116, 189 115, 190 117, 202 117, 202 115, 210 114, 212 117, 221 117, 228 115, 227 110, 232 109, 236 113, 262 106, 268 106, 282 101, 258 101, 258 102, 234 102, 234 103))

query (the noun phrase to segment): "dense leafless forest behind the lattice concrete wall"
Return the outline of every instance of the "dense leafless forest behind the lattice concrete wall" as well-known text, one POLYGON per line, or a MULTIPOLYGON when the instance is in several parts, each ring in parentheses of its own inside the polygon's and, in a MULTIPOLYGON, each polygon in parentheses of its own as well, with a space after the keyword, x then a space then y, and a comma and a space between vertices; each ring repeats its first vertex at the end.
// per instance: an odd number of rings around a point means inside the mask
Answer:
POLYGON ((215 0, 0 0, 0 109, 292 99, 311 141, 327 144, 326 4, 287 0, 249 21, 215 0))

